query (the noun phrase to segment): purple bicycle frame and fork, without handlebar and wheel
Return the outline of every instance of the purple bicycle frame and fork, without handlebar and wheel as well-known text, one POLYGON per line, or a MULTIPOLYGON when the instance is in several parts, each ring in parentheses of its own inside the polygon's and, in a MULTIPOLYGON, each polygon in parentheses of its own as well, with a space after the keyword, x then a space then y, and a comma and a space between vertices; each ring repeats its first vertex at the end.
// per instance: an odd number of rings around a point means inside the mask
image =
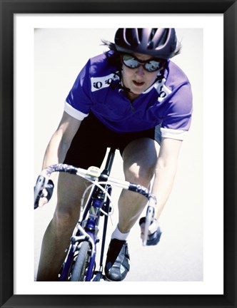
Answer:
MULTIPOLYGON (((115 148, 111 148, 106 159, 106 166, 101 173, 99 180, 106 181, 106 178, 111 173, 111 168, 114 162, 115 148)), ((102 186, 106 191, 111 195, 111 185, 104 184, 102 186)), ((79 220, 74 233, 76 235, 71 237, 71 245, 69 247, 69 252, 66 257, 66 261, 64 262, 64 267, 61 272, 60 280, 64 281, 68 279, 72 262, 74 261, 74 255, 76 254, 76 250, 79 249, 79 244, 84 241, 88 241, 91 245, 91 257, 89 260, 89 266, 86 271, 86 279, 85 281, 91 281, 94 276, 94 267, 96 262, 96 243, 97 243, 97 233, 99 231, 99 220, 101 217, 101 208, 104 207, 104 211, 107 215, 104 215, 104 227, 103 227, 103 236, 101 242, 101 254, 100 254, 100 262, 99 262, 99 271, 94 278, 94 281, 99 281, 103 275, 103 259, 104 259, 104 247, 106 242, 106 230, 108 224, 108 215, 109 215, 109 204, 110 200, 106 197, 101 188, 94 187, 91 195, 89 196, 89 200, 86 202, 86 206, 84 208, 82 219, 79 220), (106 200, 106 202, 105 202, 106 200), (104 204, 105 203, 105 204, 104 204), (84 227, 82 227, 84 226, 84 227)))

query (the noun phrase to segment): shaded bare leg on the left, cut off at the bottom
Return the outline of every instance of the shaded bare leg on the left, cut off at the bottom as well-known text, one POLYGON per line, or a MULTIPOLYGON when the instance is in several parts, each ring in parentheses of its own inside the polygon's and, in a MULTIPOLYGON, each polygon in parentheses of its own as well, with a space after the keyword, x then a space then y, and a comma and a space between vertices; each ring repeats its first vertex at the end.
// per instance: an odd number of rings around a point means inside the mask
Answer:
POLYGON ((44 234, 38 281, 58 280, 59 270, 66 257, 66 247, 79 219, 81 196, 85 188, 83 179, 65 173, 59 174, 58 202, 54 217, 44 234))

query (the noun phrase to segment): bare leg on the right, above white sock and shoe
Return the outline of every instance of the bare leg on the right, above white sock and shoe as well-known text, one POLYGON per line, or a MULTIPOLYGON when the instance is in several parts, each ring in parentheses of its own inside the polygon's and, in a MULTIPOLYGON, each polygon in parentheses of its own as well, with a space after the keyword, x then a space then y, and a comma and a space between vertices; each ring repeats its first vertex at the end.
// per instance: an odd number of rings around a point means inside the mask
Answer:
MULTIPOLYGON (((134 140, 123 151, 126 180, 148 188, 156 167, 159 145, 149 138, 134 140)), ((119 230, 129 232, 146 205, 146 198, 123 190, 119 198, 119 230)))

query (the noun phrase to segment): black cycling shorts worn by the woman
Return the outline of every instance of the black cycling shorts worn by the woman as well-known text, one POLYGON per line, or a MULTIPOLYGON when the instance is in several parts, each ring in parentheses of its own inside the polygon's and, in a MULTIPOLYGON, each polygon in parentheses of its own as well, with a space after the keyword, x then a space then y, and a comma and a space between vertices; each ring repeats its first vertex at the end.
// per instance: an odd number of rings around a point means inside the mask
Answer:
POLYGON ((100 167, 107 148, 116 148, 122 155, 124 148, 138 138, 155 140, 155 128, 134 133, 116 133, 101 123, 93 113, 81 122, 64 163, 87 169, 91 165, 100 167))

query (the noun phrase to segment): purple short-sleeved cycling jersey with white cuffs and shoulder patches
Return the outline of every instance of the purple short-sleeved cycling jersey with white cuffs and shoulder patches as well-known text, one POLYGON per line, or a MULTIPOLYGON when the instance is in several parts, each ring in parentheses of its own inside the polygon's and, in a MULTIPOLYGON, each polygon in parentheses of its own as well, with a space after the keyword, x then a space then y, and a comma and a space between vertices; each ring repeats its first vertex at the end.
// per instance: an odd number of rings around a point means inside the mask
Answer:
POLYGON ((161 135, 183 139, 191 125, 192 93, 185 73, 172 61, 162 80, 132 103, 120 86, 119 72, 106 55, 89 59, 66 98, 64 111, 83 120, 91 111, 117 133, 161 125, 161 135))

